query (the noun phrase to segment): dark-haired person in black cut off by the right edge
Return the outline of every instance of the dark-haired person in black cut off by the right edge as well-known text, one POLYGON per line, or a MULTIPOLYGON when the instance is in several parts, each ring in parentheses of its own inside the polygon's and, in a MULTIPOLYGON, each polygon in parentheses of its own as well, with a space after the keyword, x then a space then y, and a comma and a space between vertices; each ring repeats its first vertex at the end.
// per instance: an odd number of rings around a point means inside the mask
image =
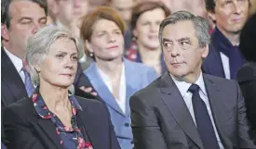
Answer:
POLYGON ((247 63, 239 68, 236 76, 245 97, 247 113, 252 129, 256 132, 256 14, 241 32, 239 50, 247 63))

